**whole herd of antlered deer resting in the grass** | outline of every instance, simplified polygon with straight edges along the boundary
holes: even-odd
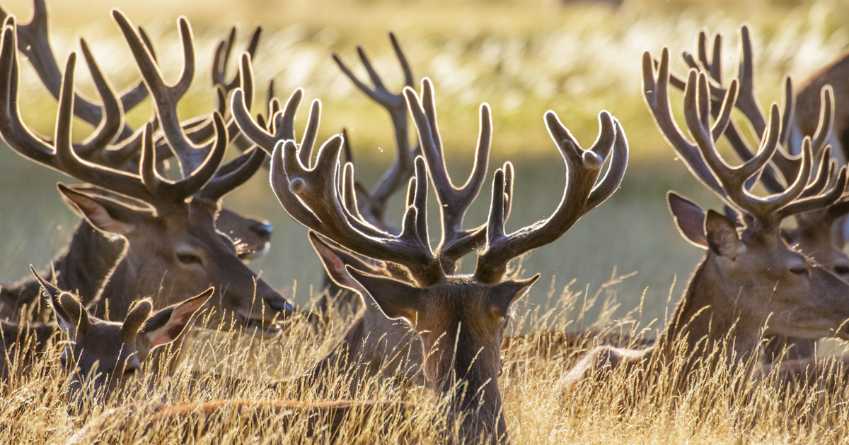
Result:
[[[344,132],[318,143],[318,100],[310,106],[303,134],[295,136],[300,88],[283,102],[269,86],[264,114],[252,114],[258,104],[252,57],[259,28],[231,80],[225,72],[234,31],[219,43],[211,68],[216,108],[181,120],[177,103],[196,70],[187,19],[177,21],[183,61],[179,78],[169,84],[160,69],[165,58],[157,58],[143,28],[113,10],[142,81],[115,92],[81,39],[99,96],[100,103],[94,103],[77,93],[77,54],[71,53],[64,66],[53,54],[44,0],[35,0],[29,24],[19,25],[5,12],[3,17],[0,136],[22,157],[82,182],[57,185],[80,216],[68,246],[44,272],[33,268],[30,280],[2,286],[3,378],[27,372],[37,353],[61,337],[68,340],[62,343],[61,362],[73,376],[72,391],[102,397],[132,379],[155,348],[179,342],[190,321],[200,320],[194,315],[202,308],[214,310],[202,318],[204,326],[197,322],[195,327],[224,325],[270,339],[284,336],[281,322],[293,317],[320,329],[324,312],[335,305],[351,311],[351,325],[309,377],[318,381],[329,370],[351,370],[351,397],[357,381],[367,377],[424,385],[447,400],[443,414],[457,425],[446,431],[453,440],[509,442],[498,387],[502,351],[510,344],[504,331],[514,303],[540,277],[520,278],[509,265],[563,236],[616,192],[628,161],[619,120],[600,112],[599,135],[583,148],[557,114],[544,114],[565,164],[563,182],[548,183],[562,186],[562,197],[547,219],[509,232],[505,223],[514,201],[514,166],[505,162],[487,182],[489,105],[480,107],[469,177],[456,186],[448,174],[434,85],[423,78],[419,91],[414,89],[412,70],[394,35],[391,43],[405,83],[401,91],[387,89],[362,49],[359,58],[373,86],[333,56],[342,73],[391,116],[397,158],[369,191],[355,177]],[[686,363],[674,380],[677,391],[686,390],[687,375],[695,369],[730,367],[751,379],[776,366],[789,378],[817,372],[817,340],[849,340],[849,258],[842,230],[849,214],[849,175],[842,165],[849,157],[849,108],[844,104],[849,56],[820,70],[798,93],[787,77],[783,105],[773,103],[765,112],[755,95],[750,32],[741,28],[739,68],[730,82],[722,79],[719,35],[711,48],[700,33],[697,53],[683,53],[689,66],[683,76],[671,71],[668,49],[660,58],[644,53],[644,99],[658,129],[690,173],[726,206],[721,213],[706,211],[668,192],[678,231],[704,249],[705,258],[657,340],[638,348],[602,344],[586,351],[554,386],[565,403],[576,387],[604,381],[620,367],[636,373],[634,382],[646,387],[682,350]],[[21,118],[21,108],[31,106],[20,97],[22,59],[59,103],[52,135],[37,134]],[[687,133],[673,117],[670,86],[683,91]],[[126,114],[148,97],[155,114],[132,128]],[[734,118],[735,109],[742,119]],[[410,117],[418,135],[412,142]],[[75,119],[93,132],[82,139],[72,136]],[[756,148],[740,128],[742,120],[756,135]],[[733,149],[739,165],[723,159],[719,143]],[[231,146],[239,154],[224,162]],[[175,180],[166,178],[171,158],[178,170],[171,177],[179,175]],[[268,164],[274,195],[306,227],[329,278],[329,291],[312,311],[284,298],[245,264],[267,250],[271,225],[222,208],[222,197]],[[387,202],[405,184],[402,218],[387,220]],[[486,220],[466,221],[485,184]],[[436,248],[426,214],[431,186],[439,205]],[[785,224],[790,219],[795,224]],[[474,272],[459,274],[459,260],[473,252]],[[339,297],[327,298],[333,295]],[[568,345],[566,340],[560,347]],[[717,348],[729,350],[717,354]],[[179,360],[171,363],[178,366]],[[343,413],[369,405],[409,408],[402,401],[352,400],[234,399],[162,406],[157,418],[228,403],[289,415]]]

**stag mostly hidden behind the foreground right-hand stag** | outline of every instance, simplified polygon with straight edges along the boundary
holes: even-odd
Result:
[[[701,31],[697,39],[698,58],[688,52],[684,52],[682,58],[689,68],[703,71],[708,75],[711,82],[711,114],[716,117],[722,106],[722,97],[727,92],[727,87],[722,85],[721,77],[722,35],[717,33],[714,36],[712,48],[708,47],[707,42],[706,32]],[[756,133],[763,133],[766,118],[756,100],[754,52],[751,30],[746,25],[740,27],[739,42],[737,72],[739,100],[735,103],[735,107],[745,116]],[[711,54],[710,58],[708,54]],[[679,76],[671,75],[670,83],[683,90],[684,81]],[[812,140],[814,155],[823,155],[826,158],[835,155],[835,159],[842,164],[841,159],[845,159],[845,156],[840,151],[839,142],[837,142],[838,145],[834,145],[835,134],[842,131],[835,126],[841,118],[837,115],[835,108],[835,88],[824,84],[822,86],[822,91],[816,92],[816,96],[821,98],[821,100],[818,99],[818,103],[822,104],[821,108],[810,108],[811,101],[806,98],[812,94],[810,88],[804,86],[799,93],[794,94],[792,78],[787,76],[784,79],[785,121],[779,137],[780,145],[791,154],[801,153],[801,137],[798,130],[803,128],[802,134],[809,136]],[[816,125],[810,125],[810,122]],[[751,147],[745,142],[734,122],[728,124],[725,135],[726,140],[741,159],[751,159],[754,156]],[[826,151],[829,145],[831,148]],[[759,182],[768,192],[780,192],[783,184],[790,184],[795,179],[792,162],[784,155],[784,150],[776,150],[773,162],[765,167]],[[849,257],[843,252],[845,240],[841,230],[841,221],[846,214],[849,214],[849,201],[844,199],[822,209],[795,214],[796,227],[782,229],[782,235],[788,244],[796,246],[801,253],[822,264],[842,280],[849,281]],[[773,337],[764,348],[763,359],[767,363],[772,362],[785,349],[785,359],[811,359],[815,354],[816,346],[816,339]]]

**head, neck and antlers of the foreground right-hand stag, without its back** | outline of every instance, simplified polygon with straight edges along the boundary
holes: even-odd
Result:
[[[678,229],[689,242],[707,250],[679,308],[689,306],[681,309],[684,312],[710,309],[698,316],[695,312],[683,314],[680,322],[704,328],[712,322],[711,335],[727,333],[734,325],[738,360],[756,353],[764,326],[767,335],[849,338],[849,325],[845,324],[849,320],[849,285],[790,248],[780,230],[784,218],[828,208],[841,199],[846,192],[846,167],[835,175],[829,150],[813,156],[810,138],[802,143],[801,157],[791,159],[781,153],[787,112],[783,120],[774,103],[757,153],[738,167],[729,166],[717,153],[715,142],[728,136],[732,128],[731,111],[742,82],[731,82],[710,125],[708,77],[690,70],[684,86],[684,114],[694,138],[689,142],[670,111],[669,51],[663,50],[656,73],[649,53],[644,54],[643,62],[645,99],[658,128],[690,172],[733,208],[739,219],[713,211],[705,214],[694,203],[670,194],[669,206]],[[771,160],[787,169],[784,177],[793,181],[780,192],[758,197],[751,192],[751,178],[762,174]],[[790,171],[795,173],[790,175]],[[690,338],[709,333],[700,334]]]

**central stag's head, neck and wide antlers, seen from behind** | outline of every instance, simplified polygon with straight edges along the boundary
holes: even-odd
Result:
[[[343,144],[340,136],[323,144],[311,167],[302,159],[313,159],[303,154],[312,147],[298,147],[293,141],[294,110],[287,111],[287,117],[279,114],[280,123],[287,130],[275,138],[251,122],[247,108],[239,104],[238,90],[231,108],[246,135],[260,147],[274,147],[272,186],[284,209],[295,220],[351,251],[398,264],[407,271],[408,280],[399,281],[346,267],[351,278],[387,317],[402,318],[419,333],[426,353],[424,375],[437,391],[451,398],[449,415],[469,416],[463,427],[464,437],[476,439],[483,434],[506,441],[498,392],[503,330],[512,303],[539,278],[536,275],[527,280],[504,280],[507,265],[511,259],[553,242],[583,214],[610,197],[624,175],[627,142],[618,122],[610,114],[602,113],[599,139],[592,149],[585,151],[556,115],[548,112],[545,116],[548,131],[566,164],[566,187],[558,209],[547,220],[507,234],[504,220],[512,199],[513,166],[506,163],[495,174],[488,223],[464,230],[466,210],[486,175],[492,136],[489,107],[481,106],[475,166],[469,181],[458,188],[446,174],[429,80],[422,82],[422,91],[424,103],[412,89],[404,90],[424,157],[414,162],[415,176],[409,182],[407,209],[397,236],[368,224],[359,214],[353,192],[353,166],[346,164],[344,169],[340,168]],[[292,98],[300,99],[300,95],[301,92],[295,92]],[[287,108],[291,103],[290,100]],[[596,184],[608,155],[610,170]],[[442,236],[436,249],[430,248],[425,214],[428,175],[441,209]],[[475,273],[455,275],[457,253],[476,246],[483,249],[478,253]]]

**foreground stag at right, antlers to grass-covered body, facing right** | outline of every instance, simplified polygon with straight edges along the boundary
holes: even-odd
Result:
[[[770,108],[767,131],[761,135],[755,156],[739,166],[730,166],[717,152],[716,142],[728,134],[739,80],[731,82],[721,112],[711,125],[708,76],[689,71],[683,108],[692,142],[672,118],[668,84],[668,48],[663,49],[656,70],[651,53],[644,53],[644,99],[655,124],[688,170],[731,206],[740,221],[712,209],[706,212],[678,193],[667,193],[678,231],[686,241],[706,250],[705,259],[694,270],[653,347],[594,348],[558,382],[564,398],[587,379],[604,381],[612,370],[621,367],[627,372],[644,370],[635,383],[646,388],[651,379],[668,373],[676,359],[683,364],[674,371],[680,374],[672,376],[674,392],[686,391],[696,370],[724,366],[750,378],[764,335],[849,338],[849,284],[790,248],[780,231],[784,218],[840,199],[846,192],[846,167],[832,177],[834,161],[824,156],[815,159],[811,140],[806,138],[802,156],[795,163],[796,180],[783,192],[757,196],[747,184],[779,149],[786,118],[779,106],[773,103]],[[812,171],[817,172],[813,178]],[[722,348],[728,352],[712,353]]]

